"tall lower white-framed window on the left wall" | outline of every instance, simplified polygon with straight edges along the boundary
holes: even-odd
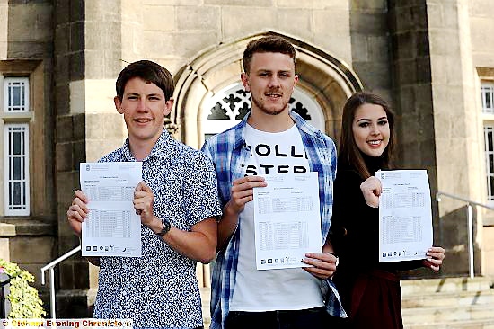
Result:
[[[4,132],[5,215],[28,216],[29,124],[5,124]]]

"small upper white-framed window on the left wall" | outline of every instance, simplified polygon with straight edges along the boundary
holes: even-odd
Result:
[[[29,78],[5,77],[4,103],[7,113],[29,111]]]

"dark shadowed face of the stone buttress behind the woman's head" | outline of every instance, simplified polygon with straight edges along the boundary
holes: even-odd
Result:
[[[432,197],[437,191],[434,106],[430,74],[428,14],[425,0],[388,1],[393,71],[393,109],[397,116],[396,166],[427,169]],[[435,244],[440,244],[437,204],[432,202]],[[421,273],[423,272],[423,273]],[[431,275],[419,269],[412,275]]]

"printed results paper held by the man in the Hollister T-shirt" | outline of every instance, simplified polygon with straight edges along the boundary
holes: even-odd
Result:
[[[258,270],[308,267],[305,253],[321,253],[318,173],[266,175],[254,189]]]

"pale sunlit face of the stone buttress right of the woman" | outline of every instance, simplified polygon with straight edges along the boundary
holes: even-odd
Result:
[[[432,76],[432,103],[436,140],[437,188],[465,199],[485,200],[483,135],[479,94],[475,88],[472,42],[467,0],[427,0],[428,38]],[[475,209],[474,209],[475,210]],[[481,214],[475,216],[475,271],[480,273]],[[444,270],[468,272],[468,236],[464,202],[439,204],[443,243],[447,247]],[[475,218],[474,218],[475,219]]]

